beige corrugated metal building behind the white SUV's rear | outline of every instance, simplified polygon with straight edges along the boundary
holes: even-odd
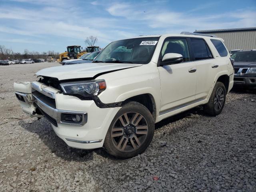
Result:
[[[256,49],[256,27],[202,31],[196,30],[195,33],[211,34],[224,39],[224,43],[229,51],[234,49]]]

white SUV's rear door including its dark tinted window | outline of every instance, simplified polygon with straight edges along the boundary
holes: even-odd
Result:
[[[190,38],[192,57],[196,65],[196,100],[206,98],[217,74],[218,64],[203,38]]]

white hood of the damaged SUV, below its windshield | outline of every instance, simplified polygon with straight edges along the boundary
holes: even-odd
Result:
[[[129,63],[84,63],[45,68],[36,73],[38,76],[58,78],[58,80],[92,78],[100,73],[142,66]]]

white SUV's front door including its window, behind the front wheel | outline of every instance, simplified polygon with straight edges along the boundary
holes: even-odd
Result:
[[[181,54],[183,62],[158,67],[161,83],[160,115],[194,102],[196,94],[196,65],[191,62],[188,39],[167,38],[160,60],[167,53]]]

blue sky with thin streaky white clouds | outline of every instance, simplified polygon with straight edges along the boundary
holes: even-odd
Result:
[[[0,0],[0,45],[64,52],[97,36],[114,40],[182,31],[256,27],[256,0]]]

